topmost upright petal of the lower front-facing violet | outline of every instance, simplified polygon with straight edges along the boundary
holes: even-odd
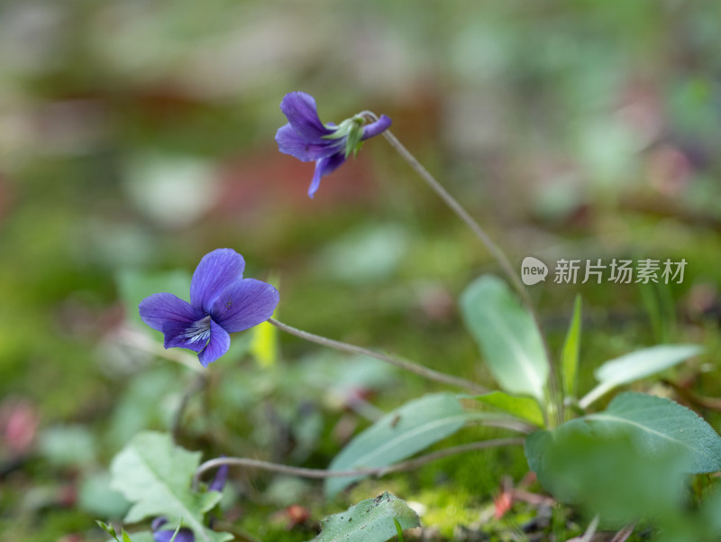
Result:
[[[213,299],[229,284],[242,279],[245,261],[230,248],[219,248],[203,256],[190,281],[190,302],[209,313]]]

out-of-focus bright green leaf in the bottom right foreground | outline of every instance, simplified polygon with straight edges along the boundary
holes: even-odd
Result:
[[[618,528],[641,518],[671,518],[683,505],[688,456],[674,446],[650,455],[636,440],[626,427],[598,433],[589,423],[569,422],[528,436],[525,452],[556,500]]]

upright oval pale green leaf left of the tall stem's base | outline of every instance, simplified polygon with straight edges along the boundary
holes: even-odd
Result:
[[[506,283],[490,275],[475,280],[461,294],[461,313],[501,388],[543,404],[549,370],[543,339]]]

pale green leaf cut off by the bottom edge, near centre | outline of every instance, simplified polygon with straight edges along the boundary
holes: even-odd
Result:
[[[375,499],[360,501],[321,522],[321,534],[313,542],[385,542],[400,528],[420,527],[415,511],[386,491]]]

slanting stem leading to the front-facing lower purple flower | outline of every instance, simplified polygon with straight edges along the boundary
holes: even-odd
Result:
[[[276,320],[275,318],[269,318],[268,322],[269,324],[278,327],[278,329],[285,331],[290,335],[296,335],[297,337],[300,337],[301,339],[306,339],[306,341],[310,341],[311,343],[322,344],[323,346],[328,346],[329,348],[334,348],[335,350],[340,350],[341,352],[347,352],[349,354],[367,355],[376,358],[381,362],[396,365],[397,367],[405,369],[408,372],[414,372],[415,374],[418,374],[428,380],[442,382],[443,384],[449,384],[451,386],[457,386],[459,388],[463,388],[464,390],[469,390],[471,393],[488,392],[486,388],[480,386],[475,382],[468,381],[464,378],[460,378],[457,376],[452,376],[451,374],[446,374],[445,372],[437,372],[418,363],[413,363],[397,357],[393,357],[391,355],[374,352],[373,350],[368,350],[366,348],[363,348],[362,346],[356,346],[355,344],[342,343],[340,341],[334,341],[333,339],[329,339],[321,335],[314,335],[312,333],[308,333],[307,331],[303,331],[302,329],[297,329],[297,327],[288,326],[287,324],[278,322],[278,320]]]

